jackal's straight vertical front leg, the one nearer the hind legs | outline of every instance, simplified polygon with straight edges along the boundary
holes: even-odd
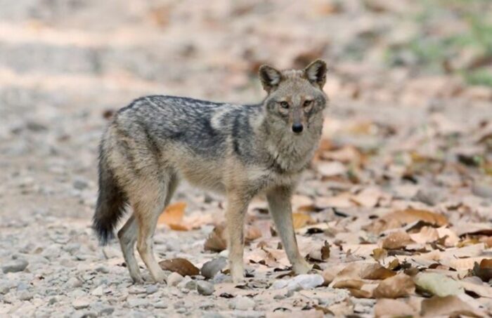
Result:
[[[244,223],[250,197],[235,192],[229,192],[226,208],[227,245],[229,249],[229,270],[233,282],[244,279]]]

